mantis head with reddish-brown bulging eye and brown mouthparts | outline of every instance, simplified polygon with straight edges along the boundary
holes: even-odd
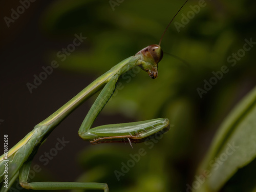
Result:
[[[152,79],[158,76],[158,62],[163,58],[163,51],[159,45],[151,45],[140,50],[136,55],[141,55],[141,69],[150,75]]]

